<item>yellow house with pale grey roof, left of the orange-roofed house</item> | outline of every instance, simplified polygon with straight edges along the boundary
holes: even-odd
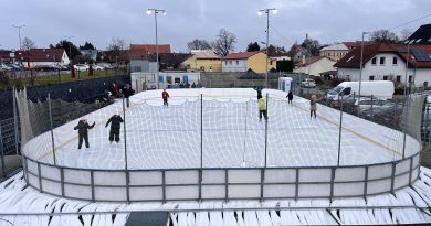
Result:
[[[192,55],[183,62],[191,72],[221,72],[221,57],[213,50],[192,50]]]

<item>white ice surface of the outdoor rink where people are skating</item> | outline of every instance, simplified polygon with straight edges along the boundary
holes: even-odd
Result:
[[[402,158],[402,132],[317,106],[317,119],[309,118],[309,100],[286,93],[269,94],[267,134],[265,121],[259,120],[256,92],[233,89],[169,89],[169,107],[162,106],[161,90],[130,97],[123,116],[123,101],[85,117],[96,126],[90,130],[90,148],[77,149],[77,120],[55,128],[56,164],[70,168],[127,169],[333,166],[372,164]],[[201,101],[201,94],[203,101]],[[202,106],[202,107],[201,107]],[[106,121],[114,114],[125,119],[120,142],[109,143]],[[202,114],[202,115],[201,115]],[[202,120],[202,123],[201,123]],[[201,136],[202,134],[202,136]],[[201,158],[202,150],[202,158]],[[406,157],[417,153],[420,144],[406,137]],[[38,136],[23,146],[27,157],[54,163],[51,132]]]

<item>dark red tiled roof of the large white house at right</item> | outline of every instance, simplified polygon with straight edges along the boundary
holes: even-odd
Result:
[[[422,49],[428,55],[431,54],[431,45],[410,45],[412,49]],[[393,53],[399,55],[404,62],[407,61],[407,45],[406,44],[387,44],[387,43],[375,43],[364,45],[362,65],[375,57],[378,53]],[[431,67],[431,61],[418,62],[414,57],[409,58],[409,67]],[[344,68],[359,68],[360,67],[360,47],[351,50],[343,58],[340,58],[335,67]]]

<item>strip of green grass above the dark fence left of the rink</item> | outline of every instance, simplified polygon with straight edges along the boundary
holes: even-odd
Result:
[[[12,87],[24,87],[24,86],[41,86],[41,85],[54,85],[61,83],[69,83],[74,80],[85,80],[85,79],[94,79],[101,77],[109,77],[120,74],[127,74],[122,69],[107,69],[107,71],[94,71],[92,76],[88,76],[88,72],[80,72],[75,73],[75,77],[73,78],[71,73],[67,74],[57,74],[52,73],[51,75],[40,75],[40,73],[33,74],[33,78],[30,76],[30,72],[28,72],[24,78],[14,78],[13,73],[8,74],[8,79],[0,79],[0,88],[12,88]]]

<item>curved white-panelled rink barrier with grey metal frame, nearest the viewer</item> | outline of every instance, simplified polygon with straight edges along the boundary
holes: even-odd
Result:
[[[420,173],[419,153],[367,165],[127,171],[66,168],[25,155],[23,159],[24,177],[31,187],[90,202],[367,198],[409,186]]]

